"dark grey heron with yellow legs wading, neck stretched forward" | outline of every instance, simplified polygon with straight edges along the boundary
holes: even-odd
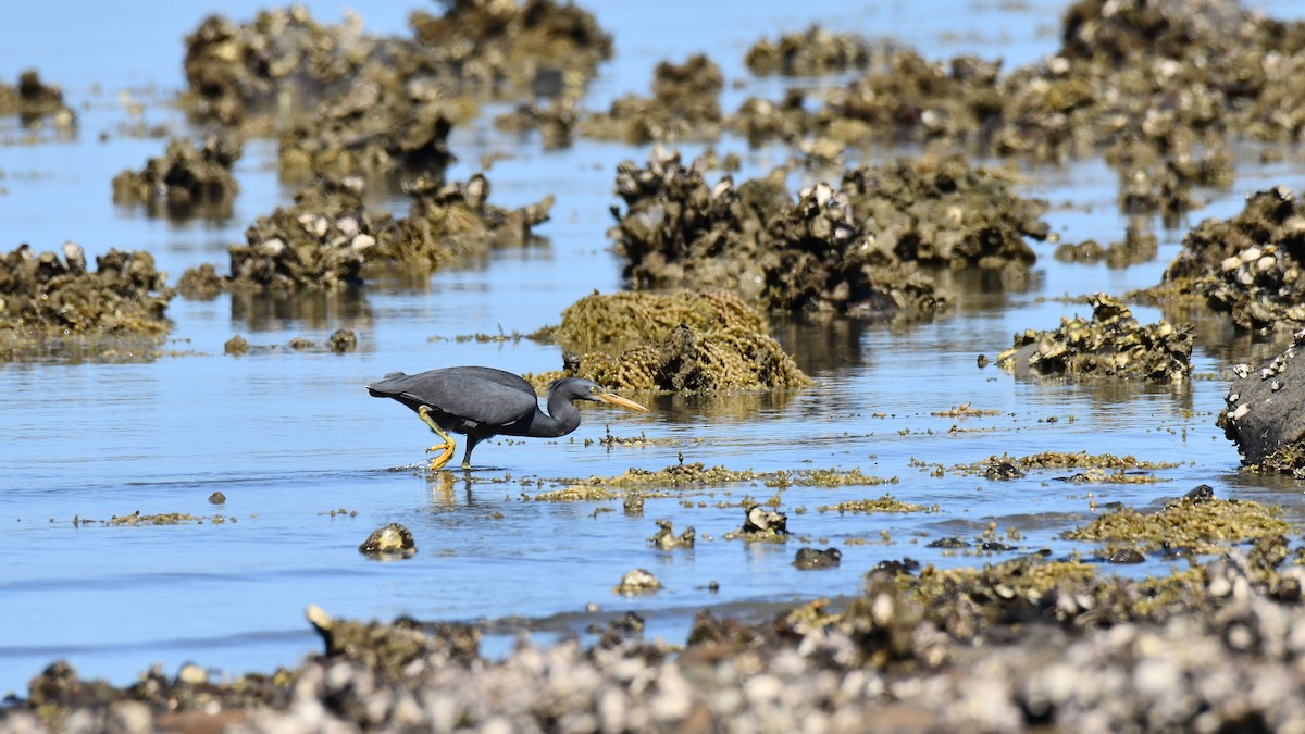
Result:
[[[431,460],[431,469],[440,469],[453,458],[455,448],[448,431],[467,436],[462,468],[471,469],[471,449],[489,436],[565,436],[579,426],[579,410],[573,400],[608,402],[647,413],[649,409],[613,394],[607,388],[581,377],[565,377],[548,385],[548,413],[539,409],[539,396],[530,383],[493,367],[445,367],[419,375],[392,372],[381,381],[367,385],[372,397],[392,397],[411,407],[444,439],[429,452],[441,452]]]

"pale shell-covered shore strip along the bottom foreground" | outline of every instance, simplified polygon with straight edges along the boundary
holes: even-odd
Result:
[[[1305,720],[1302,550],[1266,537],[1147,579],[1039,556],[919,573],[885,560],[847,599],[762,622],[703,610],[683,649],[643,641],[642,619],[626,615],[592,645],[523,640],[485,658],[470,626],[359,623],[311,606],[325,653],[295,669],[210,680],[188,665],[116,688],[57,662],[0,725],[1265,730]],[[632,688],[632,677],[656,688]]]

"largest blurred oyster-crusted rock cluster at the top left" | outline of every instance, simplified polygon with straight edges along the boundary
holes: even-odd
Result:
[[[206,18],[187,38],[189,110],[268,133],[279,131],[288,176],[440,174],[452,125],[476,99],[578,95],[611,38],[587,12],[552,0],[453,0],[445,14],[411,16],[412,38],[364,34],[351,16],[321,25],[303,7],[249,24]]]

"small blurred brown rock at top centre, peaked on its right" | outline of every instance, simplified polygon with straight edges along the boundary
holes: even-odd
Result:
[[[633,144],[714,140],[720,135],[720,67],[702,54],[683,64],[662,61],[652,72],[652,98],[625,95],[606,114],[581,121],[590,137]]]

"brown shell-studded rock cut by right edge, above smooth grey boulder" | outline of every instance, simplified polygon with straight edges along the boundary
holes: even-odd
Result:
[[[1246,197],[1232,219],[1206,219],[1182,239],[1158,296],[1193,295],[1244,329],[1305,324],[1305,206],[1285,187]]]

